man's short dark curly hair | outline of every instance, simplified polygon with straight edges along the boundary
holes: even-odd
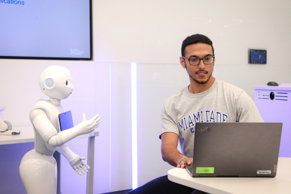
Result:
[[[189,45],[193,45],[196,43],[205,43],[212,47],[212,54],[214,55],[214,49],[212,46],[212,41],[205,35],[196,33],[194,35],[188,36],[182,43],[181,54],[185,57],[185,49]]]

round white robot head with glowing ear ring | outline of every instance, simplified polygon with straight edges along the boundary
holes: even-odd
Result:
[[[45,95],[59,100],[69,97],[74,89],[71,72],[63,66],[53,65],[45,68],[38,82]]]

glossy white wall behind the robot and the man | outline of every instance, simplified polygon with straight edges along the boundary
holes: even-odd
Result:
[[[161,159],[158,136],[163,100],[189,83],[178,64],[182,41],[194,33],[209,36],[216,57],[214,77],[254,97],[253,85],[291,82],[291,64],[282,62],[291,53],[290,7],[289,0],[94,0],[93,62],[0,60],[5,117],[14,126],[30,125],[30,108],[46,98],[37,83],[39,73],[49,65],[69,68],[75,89],[62,104],[72,111],[74,124],[83,112],[87,117],[101,114],[95,192],[130,189],[130,62],[137,62],[140,186],[172,168]],[[249,65],[248,48],[267,49],[267,65]],[[83,155],[86,144],[84,139],[69,142]],[[65,162],[63,193],[85,193],[85,177],[74,175]]]

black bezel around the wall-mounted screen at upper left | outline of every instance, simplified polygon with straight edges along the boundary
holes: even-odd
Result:
[[[19,56],[1,56],[0,59],[34,59],[34,60],[70,60],[70,61],[92,61],[93,60],[93,0],[89,0],[90,9],[90,57],[72,58],[72,57],[19,57]]]

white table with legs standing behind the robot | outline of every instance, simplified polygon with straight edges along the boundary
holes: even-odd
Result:
[[[27,127],[15,127],[15,130],[20,130],[20,134],[17,135],[0,135],[0,145],[6,144],[19,144],[19,143],[29,143],[34,142],[34,132],[32,126]],[[88,165],[90,170],[87,173],[87,186],[86,194],[93,194],[94,192],[94,152],[95,152],[95,136],[99,136],[99,131],[93,131],[92,133],[80,135],[76,138],[88,139]],[[58,164],[60,167],[60,163]],[[58,170],[59,174],[60,170]],[[60,185],[60,178],[58,178],[58,185]],[[60,187],[59,187],[60,188]],[[61,193],[61,191],[59,191]]]

